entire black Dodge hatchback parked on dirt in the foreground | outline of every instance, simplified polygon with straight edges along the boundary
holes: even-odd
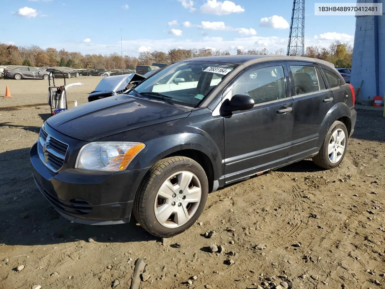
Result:
[[[354,89],[306,57],[186,59],[125,94],[49,118],[30,151],[37,187],[65,218],[128,222],[170,237],[209,192],[306,158],[331,169],[346,153]]]

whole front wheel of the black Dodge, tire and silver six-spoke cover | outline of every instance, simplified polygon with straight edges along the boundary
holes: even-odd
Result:
[[[180,189],[183,180],[186,186]],[[162,198],[164,195],[167,197]],[[189,195],[192,202],[186,198]],[[184,156],[165,158],[152,166],[142,180],[134,199],[133,213],[137,222],[150,234],[172,237],[187,230],[198,220],[207,195],[207,176],[196,161]],[[159,209],[162,206],[165,206],[164,209]],[[181,212],[180,220],[178,212]]]

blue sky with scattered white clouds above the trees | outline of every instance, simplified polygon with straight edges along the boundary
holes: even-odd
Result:
[[[353,44],[355,17],[315,16],[319,2],[333,1],[306,0],[305,45]],[[291,0],[0,0],[0,43],[120,54],[122,35],[130,56],[172,48],[286,52],[292,8]]]

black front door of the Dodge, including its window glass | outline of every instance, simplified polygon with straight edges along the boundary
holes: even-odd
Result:
[[[223,115],[226,183],[288,162],[294,101],[287,81],[285,62],[268,62],[250,67],[231,84],[225,97],[246,94],[255,104]]]

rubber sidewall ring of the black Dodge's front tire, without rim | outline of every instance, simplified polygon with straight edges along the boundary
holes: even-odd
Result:
[[[155,217],[155,197],[162,183],[178,171],[190,171],[198,177],[199,182],[201,183],[202,190],[201,202],[199,203],[199,206],[196,212],[194,213],[194,216],[192,216],[190,220],[188,220],[184,225],[178,228],[167,228],[161,225],[161,223],[159,223]],[[160,235],[171,237],[173,235],[177,235],[185,231],[186,229],[191,227],[191,225],[193,225],[196,220],[198,220],[199,216],[203,212],[204,206],[206,205],[208,195],[208,180],[206,173],[200,166],[197,166],[193,163],[178,163],[176,165],[169,166],[169,168],[164,170],[161,175],[156,176],[155,180],[152,182],[150,190],[151,193],[149,194],[146,202],[146,218],[148,220],[149,227]]]

